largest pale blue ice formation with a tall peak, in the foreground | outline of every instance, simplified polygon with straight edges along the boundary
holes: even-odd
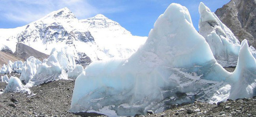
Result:
[[[160,112],[175,103],[207,101],[229,75],[193,27],[186,7],[172,3],[130,58],[93,62],[77,77],[70,111]]]

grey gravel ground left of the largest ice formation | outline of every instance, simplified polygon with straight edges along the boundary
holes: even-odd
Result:
[[[0,83],[4,89],[6,83]],[[93,113],[73,114],[70,109],[75,80],[58,80],[34,86],[32,94],[0,94],[0,117],[84,117]]]

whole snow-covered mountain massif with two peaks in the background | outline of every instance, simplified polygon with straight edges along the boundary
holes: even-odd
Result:
[[[91,61],[105,60],[111,57],[129,57],[143,43],[143,40],[145,41],[145,38],[132,36],[129,31],[126,31],[118,23],[109,20],[107,17],[102,18],[106,21],[104,25],[102,25],[103,22],[96,22],[94,19],[100,19],[97,18],[100,16],[103,17],[103,15],[99,14],[94,18],[87,19],[90,22],[85,23],[86,20],[79,21],[75,14],[67,8],[53,11],[26,26],[15,29],[0,29],[0,31],[5,32],[0,34],[0,40],[6,42],[0,44],[0,48],[9,48],[14,52],[14,43],[20,42],[45,54],[49,54],[52,48],[67,46],[70,53],[75,55],[77,63],[88,64]],[[126,33],[122,36],[126,38],[116,36],[119,35],[119,31],[116,31],[117,29],[125,31]],[[92,30],[93,34],[91,34],[90,30]],[[98,35],[108,38],[102,39]],[[102,40],[108,43],[100,43]],[[130,43],[133,45],[133,48],[129,46],[122,47],[119,44],[119,42],[131,42],[133,40],[137,40]],[[134,43],[138,43],[137,46],[134,46]],[[111,46],[111,48],[107,48],[108,46]]]

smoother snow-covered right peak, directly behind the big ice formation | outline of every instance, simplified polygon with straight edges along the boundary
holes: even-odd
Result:
[[[119,23],[102,14],[79,22],[91,32],[99,48],[112,56],[128,58],[146,40],[146,37],[132,36]]]

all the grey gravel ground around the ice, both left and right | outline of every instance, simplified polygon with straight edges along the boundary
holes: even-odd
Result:
[[[233,71],[234,68],[226,68]],[[0,90],[6,83],[0,83]],[[0,94],[0,117],[94,117],[95,113],[69,113],[75,80],[58,80],[31,88],[31,94]],[[209,104],[195,102],[173,106],[140,117],[256,117],[256,97]]]

